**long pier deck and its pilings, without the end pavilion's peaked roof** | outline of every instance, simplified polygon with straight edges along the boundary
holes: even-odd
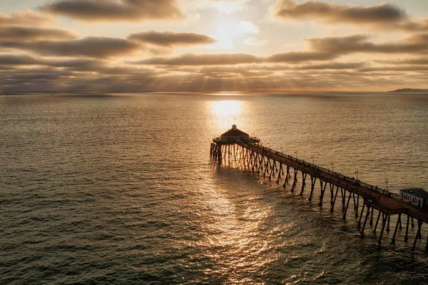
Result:
[[[379,234],[379,245],[382,241],[382,234],[384,232],[385,226],[386,231],[389,231],[389,220],[390,216],[392,215],[397,215],[397,224],[395,226],[394,234],[392,236],[392,243],[394,243],[395,241],[397,229],[402,229],[402,215],[407,215],[407,225],[404,241],[407,241],[408,239],[410,219],[412,221],[412,227],[414,227],[414,219],[417,219],[417,234],[414,238],[412,251],[414,251],[415,249],[417,240],[422,239],[422,224],[428,223],[428,208],[420,208],[418,206],[414,206],[400,199],[399,195],[394,194],[385,189],[379,189],[377,186],[372,186],[360,180],[354,179],[353,177],[345,176],[338,172],[331,171],[330,169],[325,169],[321,166],[310,164],[307,161],[297,159],[296,157],[292,157],[290,155],[283,154],[282,152],[275,151],[265,146],[261,146],[260,140],[256,138],[215,138],[213,139],[213,143],[211,144],[210,154],[211,157],[213,157],[215,161],[218,161],[220,165],[222,164],[223,160],[228,160],[229,165],[231,165],[231,161],[239,161],[238,163],[242,165],[245,169],[257,171],[259,174],[263,173],[264,176],[269,176],[269,179],[275,177],[276,173],[278,183],[283,175],[285,176],[284,186],[289,182],[289,179],[291,178],[290,169],[292,169],[294,172],[291,188],[292,192],[295,191],[298,176],[297,174],[300,172],[302,175],[302,188],[300,191],[300,195],[302,195],[305,191],[306,178],[307,176],[309,176],[311,182],[309,200],[312,200],[312,194],[315,189],[315,184],[318,181],[318,183],[320,184],[320,206],[322,206],[325,191],[327,189],[327,185],[329,185],[330,187],[327,193],[330,192],[331,211],[333,211],[338,193],[340,193],[339,198],[342,199],[343,219],[346,219],[347,209],[350,205],[350,201],[352,200],[354,204],[355,217],[357,218],[358,216],[360,216],[360,220],[358,221],[359,228],[362,224],[362,221],[364,222],[361,230],[362,236],[364,236],[365,226],[369,216],[370,225],[372,225],[373,212],[374,210],[377,210],[377,221],[376,225],[374,226],[373,232],[376,233],[377,224],[379,222],[380,217],[382,216],[382,220],[380,221],[381,231]],[[361,205],[359,207],[360,197],[363,200],[361,211]],[[367,214],[365,212],[366,209]],[[362,220],[363,216],[365,216],[365,219]],[[428,250],[428,238],[427,246],[425,246],[425,248]]]

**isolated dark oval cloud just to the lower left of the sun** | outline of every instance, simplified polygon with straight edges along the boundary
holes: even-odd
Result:
[[[177,33],[175,31],[144,31],[128,36],[132,41],[141,41],[156,46],[190,46],[195,44],[213,44],[215,39],[204,34]]]

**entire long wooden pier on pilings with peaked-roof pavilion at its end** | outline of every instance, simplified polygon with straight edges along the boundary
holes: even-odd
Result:
[[[412,244],[412,251],[414,251],[417,241],[422,240],[422,224],[428,223],[427,206],[424,208],[414,206],[400,199],[399,195],[385,189],[379,189],[377,186],[353,177],[267,148],[260,144],[259,139],[250,137],[235,125],[213,139],[210,156],[219,166],[253,171],[284,187],[291,185],[290,191],[297,192],[300,196],[303,196],[306,191],[309,201],[317,202],[320,207],[327,203],[332,212],[335,210],[335,205],[340,203],[342,219],[346,220],[347,215],[352,211],[357,219],[361,236],[365,236],[367,224],[370,224],[373,234],[379,234],[377,239],[379,246],[382,244],[384,231],[389,232],[393,227],[391,242],[394,244],[397,231],[401,231],[405,226],[404,241],[407,242],[409,227],[416,226],[417,232]],[[302,183],[300,189],[297,189],[299,179]],[[310,184],[308,189],[306,189],[307,184]],[[315,197],[315,190],[317,190],[316,194],[319,194],[317,197]],[[326,196],[329,196],[327,201],[325,201]],[[392,216],[396,220],[395,224],[391,224]],[[428,251],[428,236],[425,249]]]

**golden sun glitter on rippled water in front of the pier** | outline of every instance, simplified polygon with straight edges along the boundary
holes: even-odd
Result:
[[[253,278],[245,274],[262,274],[267,264],[277,259],[272,235],[266,236],[264,231],[272,209],[258,203],[240,203],[233,191],[221,186],[204,188],[210,215],[203,224],[205,239],[200,239],[197,246],[213,262],[204,273],[214,274],[228,284],[252,284]]]

